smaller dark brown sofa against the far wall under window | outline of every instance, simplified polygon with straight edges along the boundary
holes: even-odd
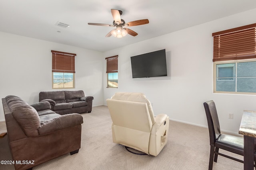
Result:
[[[90,113],[92,96],[85,96],[83,90],[40,92],[39,102],[48,101],[52,111],[64,115],[69,113]]]

